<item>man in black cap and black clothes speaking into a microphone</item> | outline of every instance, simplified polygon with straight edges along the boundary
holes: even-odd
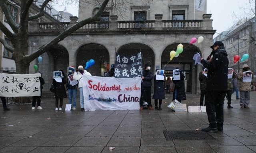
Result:
[[[209,126],[203,128],[206,132],[223,131],[223,104],[222,94],[228,89],[228,54],[221,41],[216,41],[212,46],[212,55],[206,59],[201,59],[202,65],[208,69],[205,106],[208,115]],[[216,110],[216,116],[214,114]]]

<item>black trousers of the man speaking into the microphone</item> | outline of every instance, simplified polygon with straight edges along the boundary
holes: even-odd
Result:
[[[208,91],[205,93],[206,113],[208,115],[208,121],[210,123],[210,127],[212,128],[223,127],[224,103],[222,101],[222,96],[223,96],[223,92],[219,92],[219,91]],[[216,110],[216,116],[214,114],[214,108]]]

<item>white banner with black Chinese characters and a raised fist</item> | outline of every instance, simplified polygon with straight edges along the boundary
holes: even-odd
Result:
[[[40,80],[38,75],[0,74],[0,96],[29,97],[40,96]]]

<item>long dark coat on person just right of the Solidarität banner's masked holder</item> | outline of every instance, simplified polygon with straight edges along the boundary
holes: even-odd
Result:
[[[156,75],[154,75],[153,99],[165,99],[164,80],[156,80]]]

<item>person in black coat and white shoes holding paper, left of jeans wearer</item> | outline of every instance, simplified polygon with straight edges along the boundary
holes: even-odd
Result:
[[[65,90],[65,84],[66,84],[66,76],[62,70],[59,70],[62,72],[62,82],[57,82],[54,78],[52,80],[52,84],[56,86],[55,89],[55,110],[58,110],[58,101],[60,99],[60,108],[59,110],[62,110],[63,105],[63,98],[67,98],[66,90]]]

